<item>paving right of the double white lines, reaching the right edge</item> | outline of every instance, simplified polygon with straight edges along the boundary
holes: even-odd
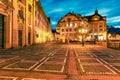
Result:
[[[120,74],[120,51],[98,47],[92,49],[91,52]]]

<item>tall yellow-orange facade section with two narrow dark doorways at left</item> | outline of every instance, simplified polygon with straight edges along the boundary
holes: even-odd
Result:
[[[32,0],[13,0],[13,44],[21,47],[32,44]]]

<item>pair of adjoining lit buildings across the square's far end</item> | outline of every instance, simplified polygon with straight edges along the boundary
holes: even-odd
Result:
[[[82,41],[82,36],[78,33],[79,27],[87,30],[86,41],[106,40],[106,17],[101,16],[96,10],[91,16],[81,16],[74,13],[66,14],[56,26],[57,41]]]

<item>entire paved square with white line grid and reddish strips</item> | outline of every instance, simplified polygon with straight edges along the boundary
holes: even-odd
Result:
[[[106,79],[120,80],[118,50],[55,43],[0,50],[0,80]]]

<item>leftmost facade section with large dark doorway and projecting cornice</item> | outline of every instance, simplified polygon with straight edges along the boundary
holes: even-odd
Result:
[[[0,48],[12,45],[13,0],[0,0]]]

